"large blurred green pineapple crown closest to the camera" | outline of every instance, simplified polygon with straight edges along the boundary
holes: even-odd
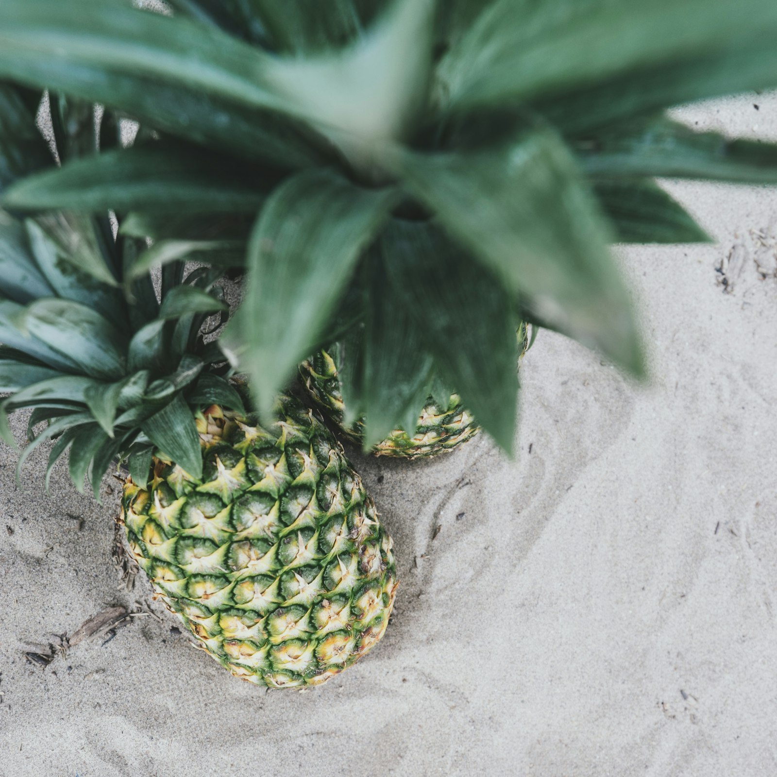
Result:
[[[222,343],[265,413],[336,339],[344,398],[375,428],[433,375],[510,449],[521,319],[643,374],[608,245],[709,240],[656,176],[777,183],[775,146],[664,113],[777,84],[773,0],[164,10],[3,0],[0,76],[155,131],[20,181],[5,207],[110,208],[159,261],[183,242],[242,267]]]

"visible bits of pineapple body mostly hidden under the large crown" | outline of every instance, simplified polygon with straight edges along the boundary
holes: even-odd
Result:
[[[526,326],[518,328],[517,339],[520,367],[529,347]],[[333,352],[334,348],[320,350],[303,361],[299,368],[301,384],[340,434],[350,442],[361,445],[364,443],[364,418],[358,418],[354,423],[346,421],[346,407]],[[438,397],[427,397],[412,435],[397,428],[385,440],[378,442],[372,452],[376,456],[422,458],[452,451],[475,437],[479,427],[472,413],[462,404],[462,398],[458,394],[449,397],[445,394],[447,392],[443,391]]]

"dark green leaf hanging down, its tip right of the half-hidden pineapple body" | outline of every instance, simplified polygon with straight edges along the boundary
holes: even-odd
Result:
[[[511,453],[518,382],[510,298],[496,277],[431,225],[393,221],[382,250],[392,286],[416,315],[437,370]]]

